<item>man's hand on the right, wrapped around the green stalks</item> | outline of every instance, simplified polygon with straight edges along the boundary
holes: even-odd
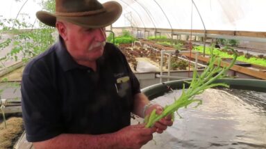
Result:
[[[163,112],[163,107],[161,107],[159,104],[153,104],[145,111],[144,113],[145,116],[149,116],[151,114],[151,111],[153,111],[153,109],[156,109],[156,113],[158,115],[160,115]],[[168,115],[160,119],[158,122],[156,122],[153,127],[156,128],[157,133],[162,134],[163,131],[166,130],[168,126],[172,125],[173,125],[172,116]]]

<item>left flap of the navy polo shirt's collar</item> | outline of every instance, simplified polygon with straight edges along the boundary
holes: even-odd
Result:
[[[58,38],[58,42],[56,42],[56,56],[58,57],[60,66],[66,72],[67,70],[72,70],[74,68],[78,68],[78,63],[74,61],[72,56],[67,51],[65,47],[65,43],[61,36]]]

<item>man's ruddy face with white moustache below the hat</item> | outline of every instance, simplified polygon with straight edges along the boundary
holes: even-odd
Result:
[[[86,29],[75,24],[66,26],[67,51],[76,61],[96,61],[106,43],[105,28]]]

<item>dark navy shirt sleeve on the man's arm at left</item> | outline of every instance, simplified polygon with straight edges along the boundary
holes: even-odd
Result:
[[[44,141],[63,131],[59,97],[42,61],[29,63],[22,76],[22,116],[29,142]]]

